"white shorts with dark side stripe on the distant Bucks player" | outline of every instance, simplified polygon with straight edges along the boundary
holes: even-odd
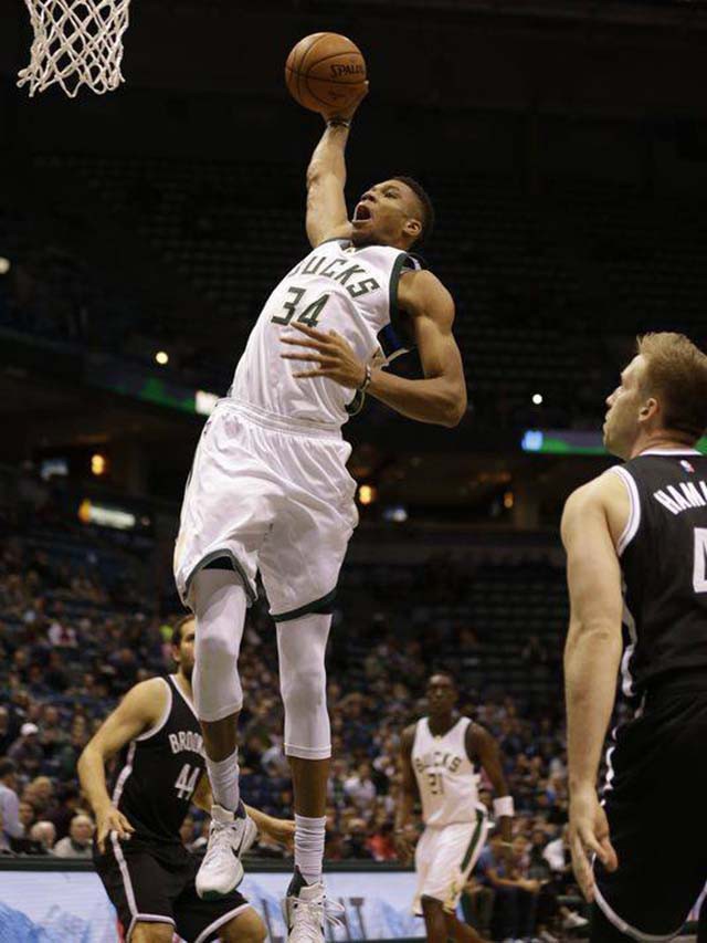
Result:
[[[422,898],[442,901],[453,913],[488,832],[488,817],[476,810],[472,821],[425,828],[415,849],[418,887],[413,911],[422,915]]]

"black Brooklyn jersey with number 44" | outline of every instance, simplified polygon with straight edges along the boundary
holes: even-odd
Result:
[[[181,842],[179,829],[205,768],[201,727],[175,675],[162,679],[167,706],[157,724],[120,752],[113,803],[135,828],[135,838]]]

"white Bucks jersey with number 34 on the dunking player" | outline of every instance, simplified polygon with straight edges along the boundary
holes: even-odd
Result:
[[[293,374],[316,364],[283,360],[281,354],[296,348],[281,338],[286,333],[306,340],[293,327],[299,322],[324,333],[336,331],[365,362],[381,346],[386,354],[400,348],[391,321],[397,316],[398,281],[404,268],[420,265],[389,245],[356,249],[347,240],[333,239],[313,249],[267,298],[229,396],[264,412],[339,428],[348,419],[346,406],[355,390],[326,377],[295,379]]]

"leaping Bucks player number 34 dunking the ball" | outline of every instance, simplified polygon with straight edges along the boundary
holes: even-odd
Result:
[[[409,254],[432,207],[409,178],[370,187],[349,221],[344,187],[347,114],[327,126],[307,172],[312,252],[267,300],[233,385],[207,422],[184,493],[175,552],[182,600],[197,616],[194,701],[214,796],[197,889],[230,893],[247,831],[239,792],[238,675],[245,610],[260,570],[277,624],[285,752],[295,806],[289,939],[323,939],[321,868],[331,754],[325,650],[339,568],[358,516],[341,438],[365,394],[421,422],[455,426],[466,385],[452,334],[454,303]],[[381,368],[400,334],[424,378]]]

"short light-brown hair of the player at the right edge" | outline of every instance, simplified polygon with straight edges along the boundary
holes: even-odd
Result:
[[[644,334],[637,349],[646,363],[644,391],[661,397],[664,428],[696,441],[707,429],[707,355],[671,332]]]

